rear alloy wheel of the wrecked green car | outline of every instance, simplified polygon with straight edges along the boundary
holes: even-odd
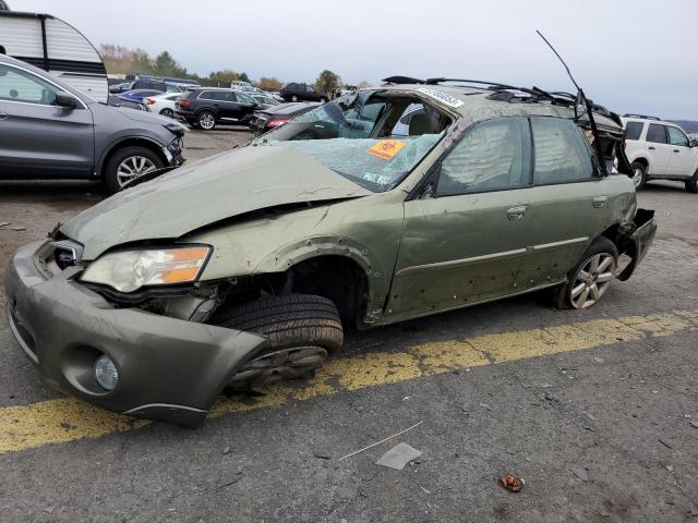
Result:
[[[601,300],[615,279],[618,250],[607,238],[601,236],[585,252],[569,272],[567,283],[557,295],[559,308],[589,308]]]

